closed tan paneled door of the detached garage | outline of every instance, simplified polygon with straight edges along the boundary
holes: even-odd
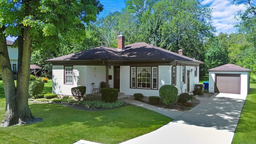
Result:
[[[240,74],[216,74],[214,92],[240,94]]]

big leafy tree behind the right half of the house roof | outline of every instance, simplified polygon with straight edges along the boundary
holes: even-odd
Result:
[[[198,0],[161,0],[143,14],[139,39],[154,45],[203,60],[203,44],[214,35],[212,9]]]

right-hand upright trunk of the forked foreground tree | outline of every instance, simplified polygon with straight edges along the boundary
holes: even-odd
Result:
[[[28,107],[28,86],[30,79],[30,61],[32,53],[32,38],[28,34],[30,27],[22,30],[22,36],[18,36],[18,72],[17,72],[17,104],[19,107],[20,122],[34,119]]]

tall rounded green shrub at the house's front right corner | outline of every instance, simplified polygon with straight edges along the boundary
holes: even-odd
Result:
[[[166,106],[170,106],[176,102],[178,89],[173,85],[164,85],[159,89],[160,98]]]

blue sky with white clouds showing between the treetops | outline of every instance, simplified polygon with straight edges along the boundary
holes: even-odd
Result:
[[[212,21],[216,27],[217,34],[233,33],[236,29],[233,27],[238,21],[234,20],[238,10],[245,10],[244,6],[235,6],[231,4],[231,0],[200,0],[204,5],[209,5],[213,8]],[[106,16],[110,12],[122,11],[125,8],[124,0],[100,0],[100,3],[104,5],[103,12],[99,16]],[[14,41],[15,37],[7,37],[7,40]]]

